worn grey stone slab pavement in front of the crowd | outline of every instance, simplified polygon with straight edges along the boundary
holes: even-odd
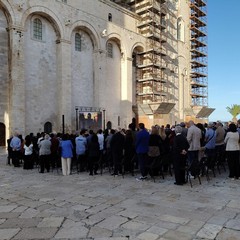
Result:
[[[0,151],[0,239],[240,239],[240,180],[136,181],[62,176],[6,165]]]

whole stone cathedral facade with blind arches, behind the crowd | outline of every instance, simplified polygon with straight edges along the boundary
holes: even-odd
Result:
[[[74,132],[85,113],[103,128],[195,118],[190,1],[154,1],[166,37],[155,43],[135,11],[142,1],[0,0],[1,145],[14,131]],[[146,55],[156,43],[164,53]],[[164,80],[146,82],[149,61]]]

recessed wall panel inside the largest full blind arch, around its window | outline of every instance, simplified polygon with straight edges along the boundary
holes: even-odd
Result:
[[[32,36],[32,21],[42,21],[43,40]],[[50,121],[54,126],[58,116],[57,45],[56,33],[47,19],[37,14],[30,16],[25,24],[24,69],[25,69],[25,131],[42,130]]]

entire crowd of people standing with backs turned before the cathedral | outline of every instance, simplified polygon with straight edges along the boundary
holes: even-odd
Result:
[[[143,123],[130,124],[125,129],[82,129],[79,134],[30,133],[23,139],[17,132],[8,139],[8,163],[14,167],[39,172],[61,168],[63,175],[70,175],[73,166],[78,172],[88,171],[97,175],[99,169],[111,169],[117,176],[123,171],[134,173],[139,169],[144,180],[148,175],[158,175],[173,168],[175,184],[186,183],[186,166],[192,177],[202,158],[210,169],[226,161],[229,178],[240,175],[240,120],[223,126],[221,122],[195,124],[193,121],[170,127],[155,125],[147,130]],[[195,166],[195,168],[193,167]],[[204,174],[203,172],[201,174]]]

